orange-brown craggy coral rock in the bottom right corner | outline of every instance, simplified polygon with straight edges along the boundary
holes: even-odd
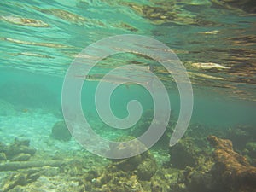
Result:
[[[215,148],[212,177],[216,179],[216,183],[222,185],[223,191],[256,191],[256,167],[251,166],[241,154],[233,151],[230,140],[210,136],[208,141]]]

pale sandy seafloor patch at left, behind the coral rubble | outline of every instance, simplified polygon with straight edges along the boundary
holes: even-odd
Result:
[[[81,149],[74,140],[61,142],[50,138],[51,129],[58,120],[60,119],[54,114],[40,110],[15,116],[0,116],[1,140],[3,143],[13,143],[14,138],[29,139],[32,147],[49,154]]]

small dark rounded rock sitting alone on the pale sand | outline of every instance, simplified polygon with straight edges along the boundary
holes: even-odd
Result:
[[[72,137],[66,123],[63,120],[55,123],[51,130],[51,136],[65,142],[69,141]]]

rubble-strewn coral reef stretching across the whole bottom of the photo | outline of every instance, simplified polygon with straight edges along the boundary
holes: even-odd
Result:
[[[137,156],[106,160],[96,155],[77,153],[34,154],[28,140],[0,143],[0,189],[1,191],[91,191],[91,192],[254,192],[256,191],[255,141],[247,137],[233,150],[232,142],[218,136],[230,137],[229,130],[211,130],[206,126],[193,125],[177,145],[160,154],[157,147]],[[192,130],[193,129],[193,130]],[[234,131],[237,127],[234,128]],[[252,128],[240,126],[241,133]],[[238,131],[237,131],[238,132]],[[250,135],[250,134],[249,134]],[[120,137],[118,141],[134,137]],[[236,140],[234,140],[236,141]],[[238,140],[236,141],[238,142]],[[18,148],[19,146],[19,148]],[[236,145],[239,146],[239,145]],[[138,146],[109,146],[113,153],[124,153],[124,148],[138,150]],[[158,152],[158,153],[156,153]],[[15,161],[24,154],[32,159]],[[154,155],[153,155],[154,154]],[[164,161],[160,161],[166,154]],[[246,156],[242,156],[246,155]],[[25,158],[26,159],[26,155]],[[45,160],[44,155],[48,155]],[[21,158],[20,157],[20,158]],[[21,158],[21,160],[22,160]],[[160,163],[161,162],[161,163]]]

